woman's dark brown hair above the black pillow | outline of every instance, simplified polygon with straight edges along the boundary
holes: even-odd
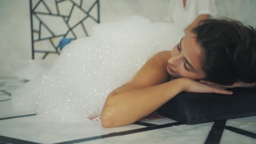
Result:
[[[193,31],[202,47],[205,80],[231,85],[256,81],[256,31],[226,17],[201,20]]]

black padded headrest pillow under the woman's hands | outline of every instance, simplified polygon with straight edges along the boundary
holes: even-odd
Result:
[[[160,115],[185,124],[256,115],[256,88],[229,88],[232,95],[183,92],[158,109]]]

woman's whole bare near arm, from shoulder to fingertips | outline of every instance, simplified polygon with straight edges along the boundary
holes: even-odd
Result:
[[[232,94],[186,78],[168,81],[166,65],[169,53],[160,52],[149,59],[132,82],[108,95],[101,113],[104,127],[119,127],[136,122],[183,91]]]

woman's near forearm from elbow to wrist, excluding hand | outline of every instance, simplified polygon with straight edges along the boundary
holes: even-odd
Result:
[[[131,124],[154,112],[183,91],[182,79],[109,95],[101,113],[104,127]]]

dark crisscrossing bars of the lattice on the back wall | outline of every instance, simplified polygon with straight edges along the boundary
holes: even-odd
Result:
[[[56,54],[60,55],[60,44],[55,45],[53,43],[52,39],[53,38],[57,38],[57,37],[66,37],[69,32],[71,32],[73,34],[74,39],[77,39],[77,35],[75,35],[75,33],[73,32],[73,28],[77,27],[78,25],[82,25],[84,33],[86,34],[86,36],[88,36],[88,32],[86,31],[86,28],[84,26],[83,21],[88,19],[89,17],[92,20],[94,20],[95,22],[100,23],[100,0],[95,0],[95,2],[91,5],[91,7],[90,7],[90,9],[88,11],[86,11],[85,9],[82,8],[83,0],[80,0],[80,4],[77,4],[77,3],[73,2],[72,0],[54,0],[57,13],[52,13],[52,11],[49,9],[48,5],[44,1],[45,0],[39,0],[37,2],[37,4],[33,7],[32,0],[30,0],[32,59],[34,59],[34,55],[35,55],[36,52],[44,53],[44,56],[42,57],[42,59],[44,59],[49,53],[56,53]],[[61,2],[64,2],[64,1],[70,1],[71,4],[72,4],[72,8],[71,8],[71,11],[69,11],[69,15],[62,15],[62,14],[60,14],[59,5],[58,4],[61,3]],[[40,3],[42,3],[44,5],[44,7],[47,9],[48,13],[36,11],[36,9],[38,8],[38,5]],[[95,5],[97,5],[97,19],[90,15],[90,11],[92,10],[92,8],[95,7]],[[71,27],[71,26],[69,26],[68,21],[69,21],[69,19],[71,17],[71,14],[73,12],[74,7],[77,7],[80,10],[82,10],[86,16],[82,20],[77,22],[73,27]],[[51,31],[51,29],[46,25],[46,23],[44,23],[44,21],[41,20],[40,17],[38,17],[38,14],[39,15],[49,15],[49,16],[62,17],[63,21],[65,22],[65,24],[68,27],[68,31],[66,33],[59,34],[59,35],[54,34],[54,32]],[[33,16],[36,17],[36,19],[39,21],[39,28],[38,29],[34,28],[34,26],[33,26]],[[41,38],[41,27],[42,27],[42,25],[48,30],[48,32],[51,34],[51,37]],[[34,39],[34,33],[38,33],[38,38],[37,39]],[[71,39],[71,40],[74,40],[74,39]],[[35,50],[34,49],[34,43],[37,43],[38,41],[42,41],[42,40],[49,40],[51,45],[54,48],[54,51]]]

